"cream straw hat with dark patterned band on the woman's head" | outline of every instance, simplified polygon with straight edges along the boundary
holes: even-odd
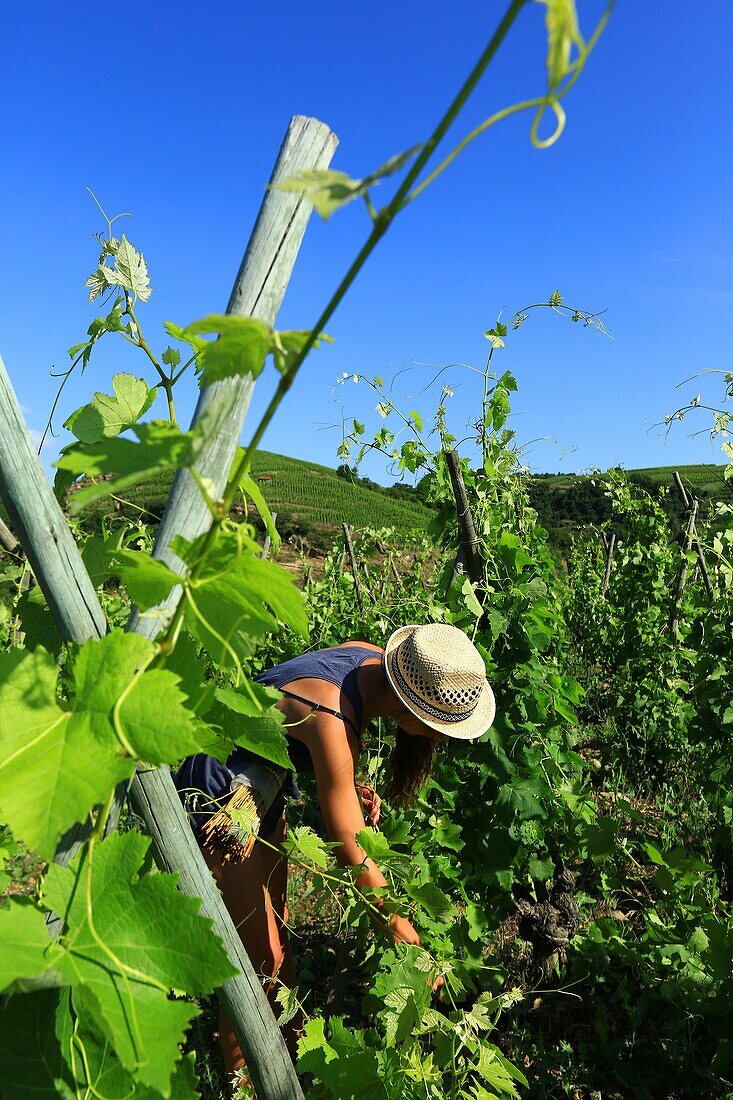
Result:
[[[384,648],[384,668],[405,706],[446,737],[480,737],[494,721],[483,658],[458,627],[400,627]]]

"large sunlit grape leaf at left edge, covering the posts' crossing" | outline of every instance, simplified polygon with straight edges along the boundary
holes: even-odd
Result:
[[[133,773],[125,744],[153,763],[200,751],[177,676],[138,674],[154,652],[152,642],[121,630],[86,642],[74,666],[76,693],[64,703],[46,650],[0,653],[0,806],[13,833],[45,859],[69,825]],[[123,743],[113,708],[128,688],[118,718]]]

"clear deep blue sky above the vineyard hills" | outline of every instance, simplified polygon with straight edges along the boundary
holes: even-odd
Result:
[[[586,32],[602,7],[579,0]],[[163,320],[185,324],[226,306],[292,114],[328,122],[340,139],[333,166],[363,175],[428,135],[503,10],[491,0],[4,6],[0,354],[30,426],[46,419],[50,367],[68,363],[95,316],[83,284],[103,224],[87,186],[108,212],[134,212],[124,231],[155,288],[141,322],[162,349]],[[566,100],[560,142],[533,148],[528,117],[515,118],[398,219],[332,319],[333,346],[308,362],[264,446],[336,464],[339,432],[322,430],[340,420],[336,398],[346,415],[378,419],[364,387],[332,394],[338,375],[480,365],[481,333],[500,310],[558,287],[573,305],[605,309],[613,340],[538,315],[507,341],[497,365],[518,380],[519,439],[557,441],[535,443],[532,466],[720,461],[707,438],[690,438],[702,417],[667,441],[653,426],[696,392],[677,383],[730,369],[732,42],[730,0],[619,0]],[[544,59],[544,9],[528,3],[452,141],[540,94]],[[380,190],[382,201],[389,186]],[[357,204],[328,224],[314,216],[281,328],[315,321],[368,228]],[[108,340],[67,387],[58,426],[117,371],[145,373],[142,356]],[[402,391],[431,373],[415,366]],[[460,437],[479,393],[466,372],[447,377]],[[258,383],[250,426],[273,382]],[[178,395],[187,425],[193,384]],[[425,416],[433,404],[408,402]],[[164,415],[162,400],[156,408]],[[364,472],[382,480],[375,465]]]

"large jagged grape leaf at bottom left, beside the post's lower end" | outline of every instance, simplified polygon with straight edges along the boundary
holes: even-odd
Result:
[[[94,927],[77,887],[78,858],[68,868],[48,868],[43,900],[66,924],[58,969],[74,988],[75,1005],[91,1014],[136,1080],[165,1094],[178,1045],[198,1012],[171,1000],[165,988],[210,993],[236,971],[211,922],[198,915],[200,900],[179,893],[174,875],[140,875],[149,846],[136,833],[96,845]]]

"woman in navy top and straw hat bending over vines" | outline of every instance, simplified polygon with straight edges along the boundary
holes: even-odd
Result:
[[[359,887],[386,886],[355,839],[364,827],[355,784],[362,730],[373,718],[394,718],[397,730],[387,794],[396,804],[409,804],[429,774],[436,740],[480,737],[493,721],[494,697],[481,654],[456,627],[406,626],[395,630],[384,650],[348,641],[285,661],[260,675],[259,682],[282,692],[277,706],[285,715],[289,756],[297,771],[315,777],[328,836],[338,845],[338,862],[361,868]],[[233,752],[226,766],[204,755],[184,762],[175,782],[199,838],[207,818],[231,798],[232,781],[249,782],[249,770],[256,785],[252,769],[263,768],[272,766],[245,749]],[[249,856],[233,859],[223,849],[205,848],[205,854],[254,969],[272,985],[280,976],[292,987],[295,976],[285,935],[287,862],[278,848],[285,837],[292,778],[276,770],[275,774],[277,789],[262,817],[260,836],[276,850],[255,845]],[[190,799],[192,791],[198,792],[197,802]],[[371,824],[376,825],[379,798],[366,790],[362,799]],[[419,944],[413,925],[396,913],[385,920],[384,928],[395,943]],[[223,1015],[220,1034],[227,1069],[240,1069],[242,1055]]]

